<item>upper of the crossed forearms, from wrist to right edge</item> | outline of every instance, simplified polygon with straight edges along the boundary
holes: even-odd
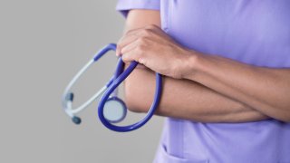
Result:
[[[193,57],[189,63],[192,73],[185,78],[269,117],[290,121],[290,69],[256,67],[214,55]]]

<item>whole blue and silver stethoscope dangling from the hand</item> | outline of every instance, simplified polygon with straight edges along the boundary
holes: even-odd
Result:
[[[135,69],[138,62],[131,62],[129,67],[124,71],[124,62],[122,62],[121,58],[119,58],[117,62],[117,68],[113,76],[111,77],[111,80],[107,82],[105,86],[102,87],[100,91],[97,91],[92,98],[90,98],[88,101],[84,102],[80,107],[73,109],[73,92],[71,91],[74,83],[82,76],[84,72],[86,72],[89,67],[91,67],[92,63],[99,61],[102,56],[109,52],[109,51],[115,51],[116,50],[116,44],[110,43],[104,48],[102,48],[101,51],[95,54],[95,56],[92,58],[90,62],[85,64],[81,71],[78,72],[74,77],[73,80],[68,84],[65,91],[63,92],[63,110],[66,112],[67,115],[71,117],[73,122],[75,124],[80,124],[82,122],[81,118],[75,116],[76,113],[80,112],[81,110],[85,109],[87,106],[89,106],[92,101],[95,101],[100,95],[102,95],[101,101],[99,102],[98,106],[98,115],[99,119],[102,121],[102,124],[107,127],[108,129],[119,131],[119,132],[126,132],[131,131],[134,129],[139,129],[141,126],[143,126],[150,118],[153,116],[154,111],[157,109],[159,102],[160,102],[160,96],[161,96],[161,75],[159,73],[156,73],[156,89],[155,89],[155,95],[154,100],[151,104],[150,110],[148,111],[147,115],[140,120],[139,122],[136,122],[134,124],[131,124],[129,126],[116,126],[112,123],[118,123],[121,120],[124,120],[127,114],[127,107],[126,104],[121,101],[120,98],[117,97],[118,91],[116,88],[123,82]],[[103,93],[104,92],[104,93]],[[103,93],[103,94],[102,94]]]

